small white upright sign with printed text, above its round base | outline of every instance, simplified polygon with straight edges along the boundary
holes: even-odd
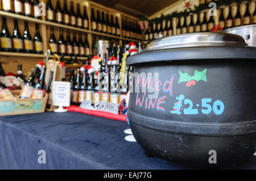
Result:
[[[69,107],[70,106],[70,82],[53,82],[53,106]]]

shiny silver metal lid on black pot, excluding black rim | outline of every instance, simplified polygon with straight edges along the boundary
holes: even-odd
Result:
[[[224,45],[247,44],[241,36],[231,33],[185,33],[182,35],[166,36],[160,39],[153,40],[146,45],[146,48],[143,51]]]

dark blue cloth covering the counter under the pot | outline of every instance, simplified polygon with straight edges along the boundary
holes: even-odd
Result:
[[[146,157],[123,121],[77,112],[0,117],[0,169],[189,169]],[[39,163],[39,150],[46,163]],[[256,157],[228,169],[256,169]]]

